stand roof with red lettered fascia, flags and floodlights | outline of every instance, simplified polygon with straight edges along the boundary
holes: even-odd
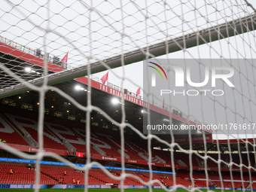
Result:
[[[15,47],[12,47],[14,45]],[[15,75],[19,76],[20,78],[23,78],[24,81],[30,81],[30,83],[32,84],[34,81],[37,81],[38,79],[44,76],[43,67],[45,55],[47,55],[47,73],[49,75],[53,75],[56,72],[61,72],[66,69],[66,63],[65,66],[63,66],[60,62],[60,59],[56,59],[54,56],[50,56],[50,54],[48,53],[42,54],[41,50],[31,50],[29,47],[25,47],[20,44],[15,44],[15,42],[3,37],[0,51],[0,62],[2,62],[3,66],[10,69],[11,72],[14,72]],[[20,82],[13,78],[11,75],[9,75],[7,72],[1,71],[0,75],[1,92],[5,92],[6,89],[13,89],[13,87],[17,85],[20,86]],[[93,76],[91,76],[90,78],[92,78],[94,82],[92,83],[92,87],[96,88],[92,90],[93,105],[102,108],[104,111],[108,111],[108,114],[113,116],[115,120],[120,121],[120,105],[114,106],[111,103],[111,99],[113,99],[114,96],[120,98],[120,93],[126,93],[126,119],[128,120],[128,122],[131,122],[133,125],[136,125],[136,127],[142,127],[142,109],[143,107],[147,107],[147,102],[144,102],[140,96],[136,96],[136,94],[131,93],[129,90],[116,87],[114,86],[114,84],[107,85],[109,89],[111,88],[113,90],[113,93],[111,92],[111,94],[107,94],[110,92],[108,90],[105,90],[105,88],[103,89],[104,86],[102,87],[102,84],[99,83],[99,79],[95,79],[93,78]],[[56,84],[55,87],[58,87],[65,93],[69,93],[69,95],[75,98],[75,100],[78,101],[81,105],[86,106],[88,90],[87,84],[88,78],[84,77]],[[93,86],[93,84],[96,85]],[[80,86],[81,90],[75,89],[76,86]],[[24,86],[21,84],[21,87]],[[38,93],[36,93],[35,91],[30,91],[29,93],[20,93],[11,98],[14,99],[17,96],[18,99],[19,96],[22,96],[22,98],[27,98],[27,96],[29,96],[29,99],[25,100],[26,103],[29,105],[38,105]],[[33,98],[31,99],[31,97]],[[65,98],[58,96],[57,93],[54,93],[51,90],[47,92],[45,99],[45,108],[50,109],[53,106],[53,110],[58,109],[63,113],[64,111],[67,111],[67,104],[70,108],[69,114],[82,114],[82,111],[72,108],[72,104],[70,103],[70,101],[67,101]],[[156,107],[155,105],[156,104],[152,105],[151,107],[151,113],[154,114],[152,116],[162,120],[168,119],[169,111],[166,111],[165,109],[170,109],[159,108],[159,106]],[[177,114],[178,113],[173,114],[172,116],[173,123],[177,124],[179,121],[187,123],[187,120],[182,118],[182,114]]]

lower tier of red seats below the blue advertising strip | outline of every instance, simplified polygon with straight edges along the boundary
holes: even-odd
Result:
[[[10,174],[10,169],[14,170],[14,174]],[[64,172],[67,172],[64,175]],[[35,184],[35,169],[29,169],[26,166],[19,165],[9,165],[9,164],[0,164],[0,183],[2,184]],[[127,172],[126,172],[127,173]],[[163,174],[152,174],[148,172],[128,172],[130,175],[135,175],[142,179],[142,181],[148,182],[150,178],[158,180],[167,186],[173,186],[174,184],[180,184],[182,186],[192,185],[189,172],[178,172],[176,175],[163,175]],[[84,184],[84,172],[74,170],[70,167],[52,167],[52,166],[41,166],[40,169],[40,184],[59,184],[59,178],[64,178],[63,184],[73,184],[73,179],[75,181],[80,180],[80,184]],[[111,174],[116,177],[120,177],[120,171],[112,171]],[[200,180],[206,178],[203,176],[203,172],[194,172],[194,187],[205,187],[207,185],[206,181]],[[233,183],[230,180],[229,172],[223,172],[222,176],[223,181],[219,180],[218,173],[209,173],[209,179],[212,180],[214,185],[218,187],[236,187],[239,188],[242,186],[241,175],[239,172],[233,173]],[[243,187],[247,187],[249,184],[248,173],[243,173]],[[254,180],[254,176],[252,178]],[[109,177],[105,172],[100,169],[90,169],[88,174],[88,184],[120,184],[120,180]],[[125,178],[125,185],[140,185],[141,183],[136,178],[128,176]],[[209,186],[212,185],[208,181]],[[153,185],[159,185],[155,182]],[[252,184],[251,187],[255,188],[256,184]]]

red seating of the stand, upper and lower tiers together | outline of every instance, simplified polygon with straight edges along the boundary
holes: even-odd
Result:
[[[91,154],[100,154],[107,157],[120,157],[120,137],[117,133],[109,133],[105,130],[97,130],[96,127],[91,127],[93,133],[91,134],[90,151]],[[37,144],[37,123],[35,117],[29,117],[28,114],[24,113],[18,115],[13,111],[6,110],[5,113],[0,113],[0,133],[1,138],[5,139],[9,144],[14,145],[25,145],[32,146],[31,144]],[[86,140],[85,140],[85,129],[83,126],[69,123],[68,125],[64,121],[58,121],[57,123],[53,120],[46,119],[44,122],[44,148],[54,148],[62,151],[68,151],[63,145],[63,141],[67,141],[75,148],[75,151],[79,151],[86,154]],[[32,143],[29,143],[25,136],[31,136]],[[131,138],[125,140],[125,157],[130,160],[148,160],[147,142],[143,139],[131,142]],[[249,157],[248,162],[247,154],[208,154],[213,160],[221,160],[229,163],[232,158],[234,163],[238,165],[242,162],[245,166],[249,163],[254,166],[254,157]],[[3,157],[3,156],[2,156]],[[207,166],[209,168],[218,169],[218,163],[215,163],[211,158],[207,159]],[[106,161],[107,162],[107,161]],[[152,151],[152,162],[153,163],[171,163],[171,154],[169,151]],[[193,154],[191,158],[194,169],[200,169],[205,167],[205,162],[202,158]],[[104,164],[105,162],[102,162]],[[192,181],[190,179],[190,173],[187,170],[190,168],[190,158],[188,154],[174,152],[174,163],[175,166],[179,167],[177,174],[175,175],[176,184],[184,186],[191,186]],[[107,163],[107,165],[115,166],[116,163]],[[14,168],[14,175],[9,175],[8,170]],[[128,166],[128,165],[127,165]],[[136,165],[137,166],[137,165]],[[135,167],[136,167],[135,166]],[[220,164],[221,168],[228,168],[224,163]],[[132,166],[133,167],[133,166]],[[2,175],[0,175],[0,182],[5,184],[33,184],[35,183],[35,169],[28,169],[25,166],[17,165],[0,165]],[[67,169],[68,174],[63,175],[66,168],[52,167],[52,166],[41,166],[41,184],[58,184],[59,178],[64,178],[63,184],[72,184],[72,179],[75,178],[84,184],[84,173],[75,171],[74,169]],[[147,169],[147,167],[145,167]],[[154,167],[154,169],[157,169]],[[239,167],[237,172],[233,172],[233,178],[230,177],[230,172],[222,172],[222,184],[223,187],[256,187],[256,184],[252,183],[249,186],[248,172],[240,175]],[[136,175],[143,181],[148,181],[150,175],[145,172],[129,172],[132,175]],[[112,172],[114,175],[120,175],[120,172]],[[221,180],[217,172],[208,171],[209,174],[209,186],[221,187]],[[254,174],[252,174],[254,177]],[[205,187],[207,185],[205,171],[194,171],[194,186]],[[153,174],[153,179],[157,179],[167,186],[172,186],[174,180],[173,175],[160,175]],[[233,179],[233,183],[231,182]],[[88,178],[89,184],[120,184],[120,181],[116,181],[105,175],[105,172],[101,170],[92,169],[89,172]],[[124,181],[126,185],[138,185],[139,181],[134,178],[126,178]],[[159,185],[159,184],[154,184]]]

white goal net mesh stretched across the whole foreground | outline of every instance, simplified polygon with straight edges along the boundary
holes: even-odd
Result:
[[[0,96],[5,98],[23,91],[35,90],[38,92],[38,103],[40,103],[38,107],[38,153],[28,155],[22,151],[14,151],[14,154],[33,160],[42,160],[44,156],[48,156],[69,163],[57,154],[43,151],[44,105],[46,105],[44,98],[48,90],[54,90],[76,108],[87,112],[85,126],[87,163],[83,168],[74,164],[70,165],[74,169],[85,171],[85,184],[88,181],[90,166],[101,166],[90,159],[90,120],[92,120],[90,112],[97,111],[120,130],[122,173],[117,176],[101,168],[110,178],[121,181],[122,191],[123,182],[127,176],[138,180],[142,185],[148,185],[149,190],[154,183],[165,188],[161,181],[153,179],[154,175],[151,172],[152,158],[156,158],[152,155],[152,140],[157,140],[162,147],[166,146],[171,149],[172,172],[177,171],[175,161],[178,159],[175,159],[175,153],[181,151],[182,154],[189,154],[187,166],[189,166],[190,173],[187,178],[191,181],[190,185],[193,190],[196,187],[194,181],[202,181],[198,179],[197,174],[194,175],[194,154],[200,162],[197,162],[200,168],[205,170],[206,180],[203,181],[207,181],[207,187],[209,184],[214,184],[214,181],[210,181],[214,180],[211,178],[212,174],[207,171],[210,167],[209,159],[218,163],[218,179],[215,179],[215,183],[219,182],[219,187],[227,187],[225,178],[221,176],[221,170],[224,167],[230,170],[230,179],[227,180],[231,182],[230,187],[233,187],[233,190],[236,179],[233,179],[232,167],[239,169],[239,184],[241,183],[242,188],[251,187],[254,176],[251,172],[254,172],[256,163],[254,140],[248,140],[253,137],[252,129],[245,129],[243,132],[239,131],[232,135],[223,132],[215,134],[216,145],[211,150],[217,151],[218,158],[207,152],[210,148],[207,145],[206,134],[203,132],[203,150],[200,149],[203,154],[200,154],[199,150],[194,148],[190,131],[187,141],[189,148],[179,145],[172,132],[167,133],[169,140],[160,139],[151,133],[143,135],[141,127],[135,127],[126,122],[126,105],[121,105],[120,121],[114,120],[114,117],[103,111],[100,106],[92,105],[93,90],[90,80],[93,78],[93,73],[109,69],[113,77],[112,81],[109,80],[110,83],[120,87],[121,91],[124,91],[125,87],[136,90],[134,87],[142,86],[142,79],[139,78],[142,74],[142,60],[157,56],[157,59],[192,59],[198,76],[196,81],[202,82],[206,67],[202,62],[203,59],[209,59],[210,66],[213,65],[215,59],[220,59],[218,60],[221,62],[220,66],[230,66],[236,74],[236,78],[231,79],[236,85],[232,89],[227,87],[225,81],[219,84],[226,93],[224,96],[200,94],[194,99],[187,95],[181,99],[166,97],[166,106],[163,107],[163,98],[157,96],[152,98],[151,95],[148,96],[148,93],[142,93],[141,95],[145,94],[146,98],[142,100],[164,108],[166,111],[173,112],[175,108],[178,113],[182,112],[181,116],[187,120],[185,123],[188,124],[190,120],[196,120],[196,122],[216,125],[230,126],[231,123],[234,126],[236,123],[236,126],[239,126],[245,123],[247,128],[248,125],[253,126],[256,112],[254,11],[253,5],[247,1],[2,1],[0,8],[0,26],[2,26]],[[17,50],[20,50],[21,54],[17,54]],[[65,56],[68,56],[68,61]],[[136,63],[133,68],[125,66],[131,63]],[[111,69],[117,66],[122,66],[122,68]],[[188,64],[185,61],[184,67],[186,66]],[[136,73],[135,69],[141,71]],[[171,75],[173,75],[172,72]],[[105,72],[96,76],[101,78],[102,74],[104,75]],[[85,75],[90,77],[87,83],[86,105],[81,105],[57,87],[48,85]],[[190,85],[187,81],[184,83],[186,90],[189,90]],[[112,84],[108,86],[113,86]],[[195,89],[198,90],[197,87]],[[123,97],[120,102],[124,102]],[[150,114],[148,117],[151,118]],[[148,142],[149,181],[143,181],[139,176],[124,170],[126,158],[124,129],[127,126]],[[172,142],[168,142],[170,139]],[[227,139],[227,145],[221,145],[220,139]],[[230,144],[230,139],[236,139],[236,144]],[[8,145],[0,143],[0,146],[13,151]],[[226,151],[229,155],[221,157],[220,151]],[[233,160],[231,151],[238,151],[239,161]],[[244,157],[245,154],[247,157]],[[246,163],[243,162],[245,159]],[[40,166],[39,163],[36,164],[38,170]],[[243,172],[245,170],[249,172],[248,177],[246,176],[246,179],[250,181],[249,184],[244,182]],[[39,176],[40,172],[37,172],[36,184],[39,184]],[[187,187],[186,184],[177,181],[175,174],[172,175],[172,180],[174,190],[177,187]]]

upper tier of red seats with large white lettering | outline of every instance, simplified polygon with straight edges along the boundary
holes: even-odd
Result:
[[[28,115],[27,115],[28,116]],[[120,136],[111,133],[110,136],[107,131],[96,130],[92,127],[91,141],[90,141],[90,153],[100,154],[100,151],[109,157],[120,157]],[[0,133],[1,138],[8,143],[17,145],[28,145],[28,143],[23,139],[25,135],[29,135],[38,142],[38,126],[34,119],[29,117],[20,117],[17,114],[5,114],[0,113]],[[74,127],[66,126],[64,122],[53,123],[44,122],[44,148],[54,148],[63,151],[68,151],[68,149],[62,144],[62,140],[69,141],[70,145],[76,148],[76,151],[87,153],[85,130],[84,127],[74,125]],[[133,142],[131,142],[133,141]],[[148,148],[147,142],[144,139],[125,139],[125,154],[126,158],[133,160],[148,160]],[[204,154],[200,154],[204,155]],[[190,163],[190,155],[175,152],[174,153],[174,163],[177,166],[183,166],[185,169],[190,166],[194,167],[215,167],[218,168],[218,154],[208,154],[207,165],[203,158],[193,155]],[[240,158],[241,157],[241,158]],[[248,166],[255,165],[254,155],[250,154],[248,159],[247,154],[221,154],[221,160],[226,163],[230,162],[230,159],[236,164],[244,164]],[[153,163],[166,163],[171,164],[171,155],[169,151],[158,151],[152,150]],[[221,167],[226,167],[224,163],[221,163]]]

